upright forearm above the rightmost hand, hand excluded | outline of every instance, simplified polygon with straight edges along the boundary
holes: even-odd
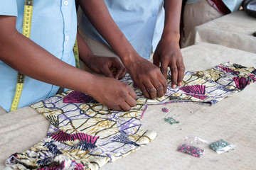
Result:
[[[170,40],[179,40],[179,26],[181,21],[181,6],[182,1],[165,0],[165,21],[164,32],[162,38],[169,38]]]

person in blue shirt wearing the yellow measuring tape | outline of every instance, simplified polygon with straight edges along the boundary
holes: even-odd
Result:
[[[93,55],[77,35],[74,0],[34,1],[31,39],[21,34],[24,0],[0,0],[0,4],[0,106],[4,110],[10,110],[17,71],[26,75],[18,108],[53,96],[59,86],[88,94],[117,111],[136,105],[132,88],[117,81],[126,73],[123,65],[114,57]],[[75,38],[80,60],[107,77],[74,67]]]

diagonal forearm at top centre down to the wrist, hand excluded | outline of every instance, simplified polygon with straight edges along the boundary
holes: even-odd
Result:
[[[139,57],[132,45],[121,30],[119,30],[116,23],[110,16],[110,13],[103,0],[80,0],[82,11],[90,19],[96,30],[102,35],[107,43],[112,47],[114,52],[120,57],[124,65],[128,61],[135,60]]]

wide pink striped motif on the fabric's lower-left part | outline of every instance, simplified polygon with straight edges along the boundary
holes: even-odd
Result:
[[[54,140],[57,140],[59,142],[63,142],[63,141],[74,141],[74,140],[82,140],[82,141],[86,141],[89,142],[91,144],[95,144],[97,142],[97,139],[99,137],[93,137],[91,135],[87,135],[85,133],[74,133],[74,134],[68,134],[66,132],[63,132],[62,130],[60,130],[60,132],[55,133],[54,135],[51,136]]]

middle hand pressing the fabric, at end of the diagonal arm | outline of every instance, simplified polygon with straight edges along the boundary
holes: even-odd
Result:
[[[164,96],[167,91],[167,81],[160,69],[142,57],[126,64],[127,70],[134,83],[141,89],[146,98],[156,99]]]

